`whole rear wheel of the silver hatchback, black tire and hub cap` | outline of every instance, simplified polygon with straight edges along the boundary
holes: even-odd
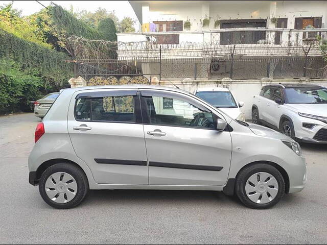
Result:
[[[59,180],[57,176],[60,176]],[[62,189],[60,190],[60,188]],[[71,163],[56,163],[48,167],[42,173],[39,181],[42,199],[57,209],[68,209],[79,205],[85,198],[88,189],[87,177],[83,170]],[[56,195],[52,198],[54,194]]]

